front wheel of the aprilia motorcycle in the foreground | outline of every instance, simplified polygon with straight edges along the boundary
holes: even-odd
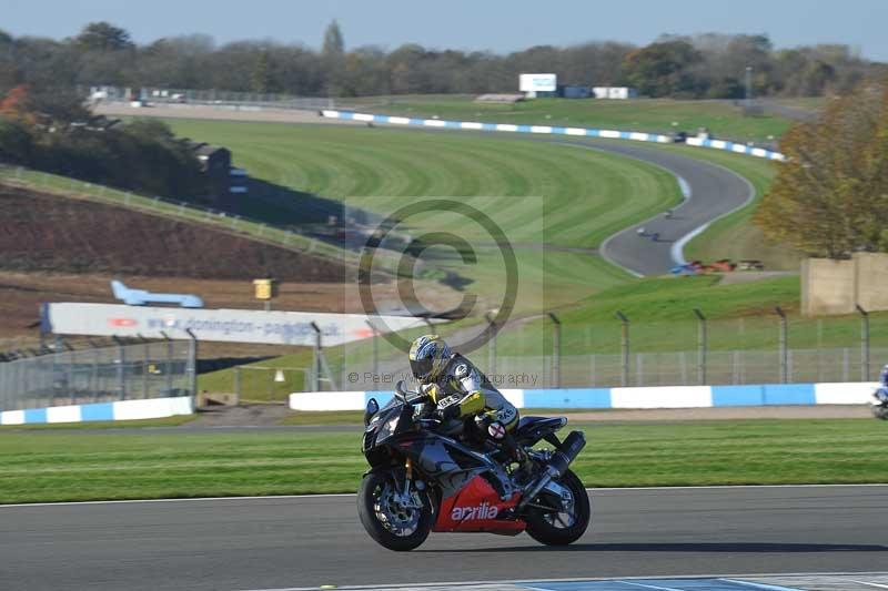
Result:
[[[371,538],[397,552],[417,548],[434,524],[428,495],[414,489],[404,498],[391,472],[371,472],[364,477],[357,491],[357,516]]]

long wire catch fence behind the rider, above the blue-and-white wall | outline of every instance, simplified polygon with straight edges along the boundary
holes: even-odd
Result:
[[[771,313],[713,322],[700,314],[696,322],[576,326],[549,318],[515,323],[463,353],[497,388],[522,389],[874,381],[888,361],[884,314],[810,319]],[[465,328],[437,325],[403,336],[431,330],[458,343]],[[323,364],[317,359],[304,386],[290,383],[292,391],[384,390],[412,379],[406,354],[381,336],[345,351],[329,349]],[[242,395],[249,398],[248,390]]]

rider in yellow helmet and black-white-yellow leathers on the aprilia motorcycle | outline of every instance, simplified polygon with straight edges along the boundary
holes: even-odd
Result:
[[[442,422],[474,419],[476,432],[504,449],[512,461],[527,458],[512,437],[518,410],[472,361],[453,353],[437,335],[423,335],[410,348],[410,367]]]

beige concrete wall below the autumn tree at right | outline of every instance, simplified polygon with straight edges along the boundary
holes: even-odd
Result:
[[[801,262],[801,314],[852,314],[888,309],[888,254],[855,253],[849,261],[807,258]]]

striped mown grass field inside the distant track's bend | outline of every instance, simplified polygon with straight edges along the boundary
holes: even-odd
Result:
[[[403,197],[543,197],[546,243],[595,247],[680,201],[675,179],[642,162],[529,140],[420,130],[168,121],[178,135],[232,150],[251,176],[325,198],[389,210]],[[626,198],[632,195],[632,198]],[[386,212],[387,213],[387,212]],[[503,200],[512,228],[534,222]],[[509,236],[512,238],[513,236]],[[514,234],[516,240],[521,234]]]

